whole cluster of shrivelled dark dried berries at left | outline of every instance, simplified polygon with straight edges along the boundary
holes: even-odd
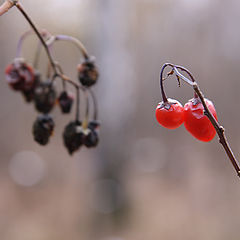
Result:
[[[94,115],[92,121],[88,120],[88,110],[84,120],[79,119],[79,94],[80,90],[88,92],[86,96],[93,96],[89,89],[97,82],[98,71],[96,69],[93,58],[85,57],[84,61],[77,66],[79,83],[73,83],[77,90],[76,119],[68,123],[63,132],[63,142],[68,152],[72,154],[81,146],[87,148],[95,147],[98,144],[99,122],[97,114]],[[5,70],[6,81],[9,86],[22,93],[26,102],[33,102],[35,109],[41,113],[33,123],[32,133],[34,140],[41,145],[49,142],[55,123],[49,115],[53,108],[58,105],[63,114],[71,112],[75,96],[66,90],[68,80],[64,79],[61,73],[55,72],[49,79],[43,81],[42,75],[37,69],[28,64],[23,58],[15,58],[14,61],[7,66]],[[58,94],[55,88],[55,79],[61,79],[63,90]],[[70,81],[72,83],[72,81]],[[89,92],[91,94],[89,94]],[[95,99],[95,98],[94,98]],[[87,99],[88,102],[88,99]],[[96,101],[95,101],[96,110]],[[88,108],[88,106],[87,106]]]

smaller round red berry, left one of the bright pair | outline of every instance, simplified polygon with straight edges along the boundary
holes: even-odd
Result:
[[[178,128],[184,121],[184,109],[180,102],[168,98],[168,102],[160,102],[156,108],[157,121],[166,128]]]

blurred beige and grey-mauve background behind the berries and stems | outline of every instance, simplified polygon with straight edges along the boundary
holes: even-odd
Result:
[[[1,1],[3,2],[3,1]],[[33,141],[37,112],[7,85],[4,69],[28,23],[11,9],[0,20],[1,240],[238,239],[240,180],[218,143],[155,120],[165,62],[187,67],[216,107],[240,159],[240,1],[20,1],[39,28],[81,39],[96,57],[100,143],[72,157],[62,131],[74,118],[56,108],[50,143]],[[36,37],[24,43],[31,62]],[[76,78],[80,54],[56,43],[54,58]],[[41,68],[47,63],[41,56]],[[171,79],[184,104],[192,90]]]

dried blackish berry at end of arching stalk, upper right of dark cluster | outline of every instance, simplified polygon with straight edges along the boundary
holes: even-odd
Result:
[[[78,79],[83,86],[90,87],[97,82],[99,74],[93,59],[86,59],[77,69]]]

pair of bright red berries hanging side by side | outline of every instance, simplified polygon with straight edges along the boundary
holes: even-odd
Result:
[[[209,111],[217,120],[213,103],[204,99]],[[216,130],[206,115],[204,107],[198,98],[190,99],[184,107],[177,100],[168,98],[160,102],[156,108],[156,118],[162,126],[175,129],[184,123],[185,128],[198,140],[209,142],[216,135]]]

